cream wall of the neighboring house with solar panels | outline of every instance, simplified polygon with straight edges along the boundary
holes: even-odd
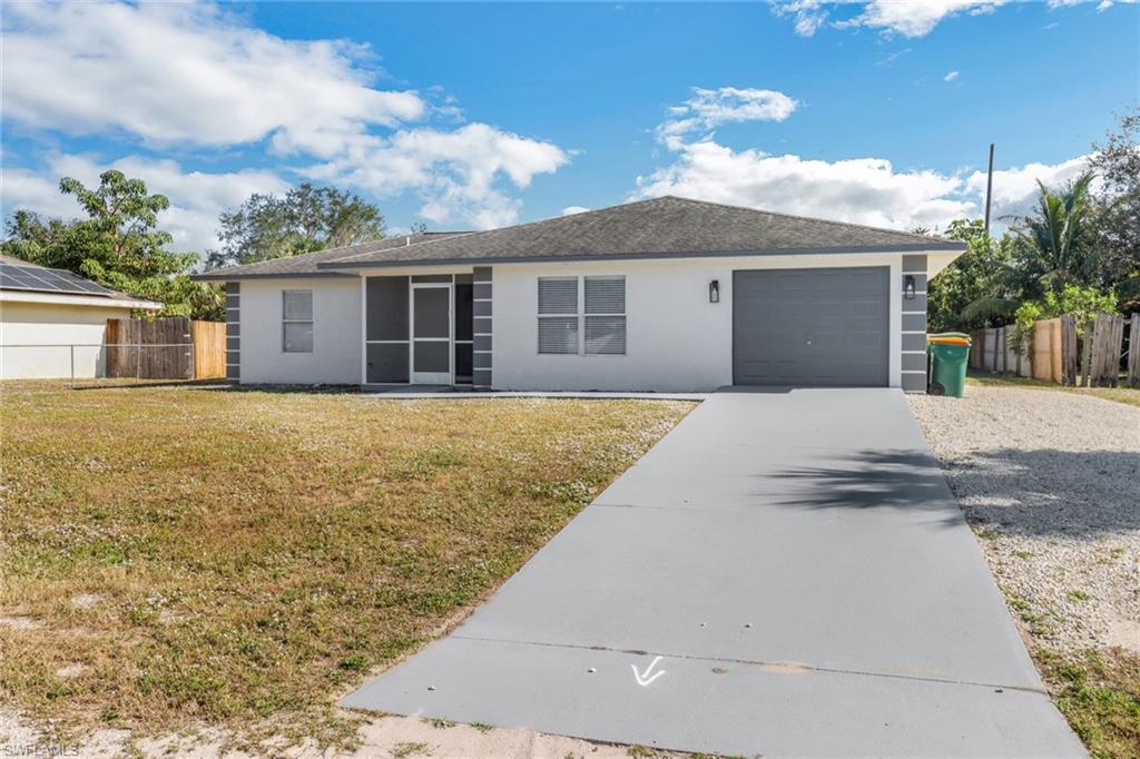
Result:
[[[129,308],[66,305],[0,299],[0,378],[101,376],[107,319],[130,316]]]

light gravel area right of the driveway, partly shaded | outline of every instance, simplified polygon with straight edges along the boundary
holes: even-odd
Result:
[[[907,398],[1025,628],[1064,652],[1140,652],[1140,408],[1013,387]]]

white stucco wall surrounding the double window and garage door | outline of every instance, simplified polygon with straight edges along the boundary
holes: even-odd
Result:
[[[889,381],[899,385],[898,253],[496,264],[494,386],[499,390],[708,391],[732,384],[732,272],[889,267]],[[625,356],[540,356],[538,277],[625,275]],[[709,303],[709,281],[720,302]]]

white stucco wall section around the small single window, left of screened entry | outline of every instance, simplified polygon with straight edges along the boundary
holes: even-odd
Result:
[[[312,291],[312,352],[282,350],[282,291]],[[360,280],[249,279],[241,291],[242,384],[359,384]]]

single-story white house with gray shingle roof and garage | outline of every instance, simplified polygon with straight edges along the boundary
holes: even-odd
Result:
[[[963,250],[662,197],[198,278],[227,286],[233,382],[923,391],[927,281]]]

